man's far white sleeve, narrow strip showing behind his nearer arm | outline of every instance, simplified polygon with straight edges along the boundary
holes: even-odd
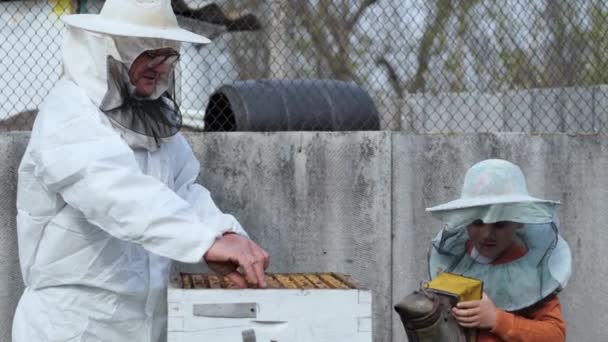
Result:
[[[234,216],[224,214],[213,202],[211,194],[196,183],[200,164],[183,135],[177,134],[172,142],[175,157],[175,192],[186,200],[201,222],[219,229],[219,234],[232,232],[248,236]]]

